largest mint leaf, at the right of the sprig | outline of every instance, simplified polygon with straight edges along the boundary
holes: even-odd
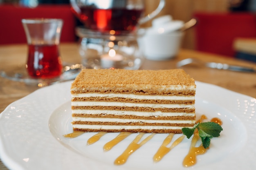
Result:
[[[213,137],[220,136],[220,132],[223,130],[219,124],[215,122],[203,122],[198,125],[198,130],[202,130],[205,133],[212,135]]]

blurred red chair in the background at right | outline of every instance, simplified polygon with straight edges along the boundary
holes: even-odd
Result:
[[[195,13],[198,51],[235,57],[234,39],[256,37],[256,16],[252,13]]]

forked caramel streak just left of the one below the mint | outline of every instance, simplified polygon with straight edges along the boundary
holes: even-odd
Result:
[[[153,157],[153,161],[158,162],[160,161],[164,155],[166,155],[170,150],[172,150],[175,146],[180,144],[180,142],[184,139],[185,135],[182,135],[178,139],[176,139],[173,144],[170,147],[166,147],[168,144],[170,144],[172,138],[173,138],[173,133],[170,133],[163,141],[163,144],[160,146],[160,148],[157,150],[156,154]]]

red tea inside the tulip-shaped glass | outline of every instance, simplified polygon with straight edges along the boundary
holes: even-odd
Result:
[[[57,45],[29,45],[27,71],[30,77],[54,78],[62,73]]]

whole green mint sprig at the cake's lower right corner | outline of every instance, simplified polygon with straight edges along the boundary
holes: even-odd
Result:
[[[195,124],[193,128],[182,128],[182,132],[189,139],[195,129],[198,129],[198,135],[202,140],[204,148],[210,146],[211,138],[220,136],[220,132],[223,130],[222,127],[215,122],[202,122]]]

